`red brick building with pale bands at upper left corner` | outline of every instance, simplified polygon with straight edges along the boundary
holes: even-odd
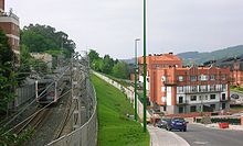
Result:
[[[0,30],[9,37],[9,44],[13,53],[20,56],[20,27],[19,18],[10,10],[4,11],[4,0],[0,0]]]

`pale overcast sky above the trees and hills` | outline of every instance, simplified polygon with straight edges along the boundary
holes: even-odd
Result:
[[[6,0],[21,27],[64,31],[77,50],[134,56],[142,38],[142,0]],[[209,52],[243,44],[243,0],[148,0],[148,53]],[[142,43],[142,42],[140,42]],[[139,45],[139,55],[142,54]]]

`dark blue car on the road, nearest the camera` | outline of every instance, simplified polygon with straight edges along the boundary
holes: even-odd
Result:
[[[187,132],[187,124],[188,122],[184,121],[183,117],[172,117],[170,122],[167,123],[167,130],[179,130]]]

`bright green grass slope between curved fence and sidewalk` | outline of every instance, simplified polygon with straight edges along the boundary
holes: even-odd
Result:
[[[134,114],[131,104],[119,90],[92,75],[98,101],[99,146],[149,146],[149,134],[126,114]]]

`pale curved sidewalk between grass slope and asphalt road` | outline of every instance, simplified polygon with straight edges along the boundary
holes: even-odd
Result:
[[[183,138],[173,132],[168,132],[151,125],[147,127],[151,139],[150,146],[190,146]]]

